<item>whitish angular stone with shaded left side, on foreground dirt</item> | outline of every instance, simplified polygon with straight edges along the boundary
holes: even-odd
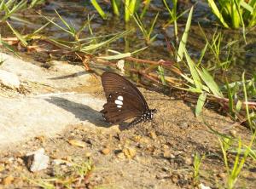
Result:
[[[44,155],[44,148],[26,154],[26,165],[32,172],[37,172],[48,167],[49,156]]]

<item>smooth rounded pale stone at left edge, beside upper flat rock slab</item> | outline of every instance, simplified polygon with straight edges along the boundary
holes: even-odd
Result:
[[[15,73],[0,70],[0,83],[10,89],[18,89],[20,87],[19,77]]]

